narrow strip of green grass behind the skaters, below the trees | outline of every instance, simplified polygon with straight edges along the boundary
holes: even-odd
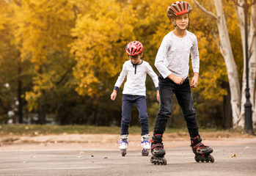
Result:
[[[150,127],[150,132],[153,131],[153,127]],[[224,131],[216,128],[200,129],[200,132],[215,132]],[[232,129],[226,130],[234,132]],[[167,128],[165,133],[187,133],[186,128]],[[237,132],[237,131],[236,131]],[[15,135],[38,135],[38,134],[61,134],[61,133],[109,133],[119,134],[120,127],[106,127],[106,126],[91,126],[91,125],[0,125],[0,135],[15,134]],[[140,134],[141,128],[138,126],[132,126],[129,128],[129,133]]]

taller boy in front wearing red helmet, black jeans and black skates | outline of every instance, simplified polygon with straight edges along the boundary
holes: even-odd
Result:
[[[194,100],[191,95],[191,87],[196,88],[198,84],[200,58],[197,47],[197,37],[189,32],[189,13],[191,6],[186,1],[176,1],[169,5],[167,17],[172,21],[175,29],[169,32],[158,49],[155,66],[160,76],[159,95],[160,109],[156,117],[156,123],[151,140],[151,163],[167,164],[164,158],[165,151],[162,136],[165,131],[167,120],[172,114],[172,95],[175,94],[178,103],[183,111],[184,120],[189,130],[191,147],[195,154],[195,160],[213,162],[210,155],[213,152],[211,147],[202,144],[200,138]],[[189,56],[194,76],[189,84]]]

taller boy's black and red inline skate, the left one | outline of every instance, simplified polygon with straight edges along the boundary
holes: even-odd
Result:
[[[155,134],[151,140],[151,153],[152,157],[150,158],[150,162],[152,164],[161,164],[167,165],[167,159],[164,158],[165,150],[164,145],[162,143],[162,134]]]

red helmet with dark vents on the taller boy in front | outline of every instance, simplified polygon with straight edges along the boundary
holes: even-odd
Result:
[[[186,1],[176,1],[169,5],[167,9],[167,17],[169,19],[175,18],[178,15],[183,15],[184,13],[190,13],[192,11],[191,6]]]

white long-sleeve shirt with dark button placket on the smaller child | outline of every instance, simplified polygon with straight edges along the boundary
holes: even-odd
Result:
[[[114,84],[114,89],[118,89],[127,76],[127,81],[122,90],[122,94],[146,95],[145,81],[147,74],[153,79],[156,89],[158,89],[158,76],[153,71],[148,62],[142,60],[140,65],[133,65],[130,60],[122,65],[122,71]]]

